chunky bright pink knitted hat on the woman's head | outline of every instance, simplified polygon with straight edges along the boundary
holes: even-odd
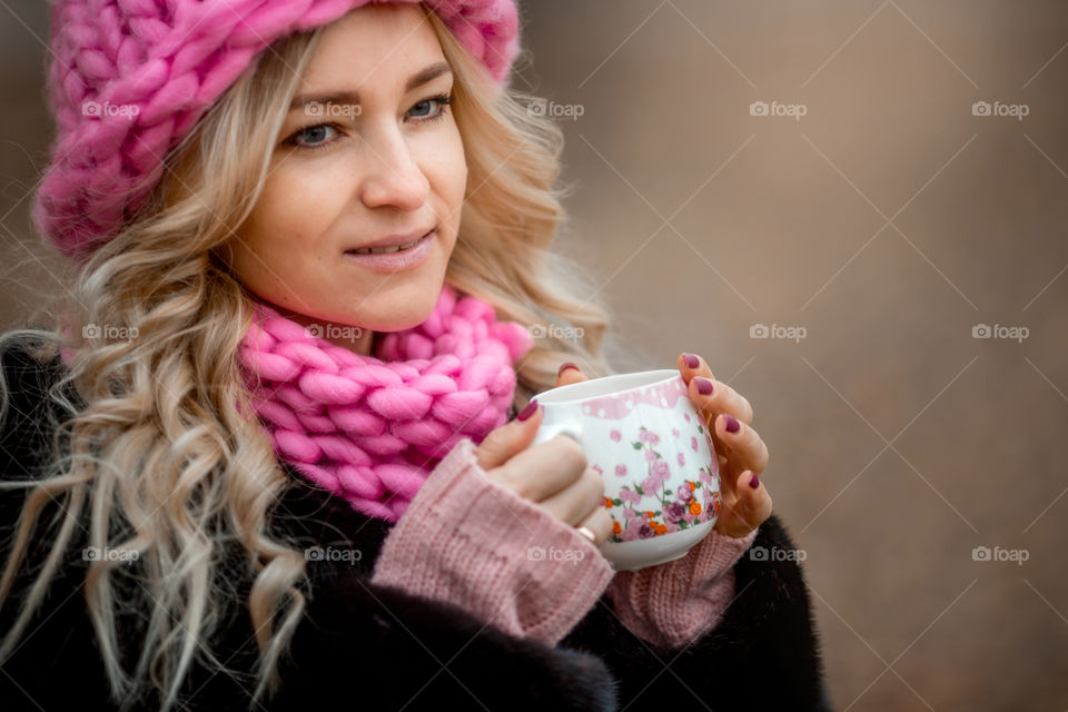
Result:
[[[167,154],[271,42],[368,2],[418,0],[50,1],[57,136],[32,217],[73,257],[144,206]],[[514,0],[424,2],[506,86],[518,53]]]

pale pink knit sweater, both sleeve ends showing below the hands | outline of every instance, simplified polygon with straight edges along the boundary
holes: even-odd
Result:
[[[507,633],[555,645],[607,590],[644,640],[680,646],[713,629],[734,596],[734,563],[756,532],[711,532],[682,558],[615,572],[596,546],[491,481],[462,439],[394,524],[372,581],[452,603]]]

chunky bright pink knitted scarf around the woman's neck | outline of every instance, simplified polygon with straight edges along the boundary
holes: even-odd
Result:
[[[363,356],[265,304],[241,345],[256,412],[275,452],[354,510],[396,522],[464,437],[508,417],[513,362],[531,347],[516,322],[449,285],[423,324],[380,335]]]

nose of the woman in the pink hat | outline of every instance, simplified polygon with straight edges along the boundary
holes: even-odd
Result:
[[[368,131],[365,145],[364,205],[368,208],[392,205],[402,210],[422,207],[431,186],[402,129],[393,125]]]

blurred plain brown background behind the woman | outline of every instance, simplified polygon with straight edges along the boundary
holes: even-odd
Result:
[[[617,365],[692,350],[753,404],[834,708],[1068,708],[1068,3],[522,13],[513,86],[567,136],[560,247],[645,354]],[[59,266],[27,196],[47,7],[0,17],[8,327]]]

